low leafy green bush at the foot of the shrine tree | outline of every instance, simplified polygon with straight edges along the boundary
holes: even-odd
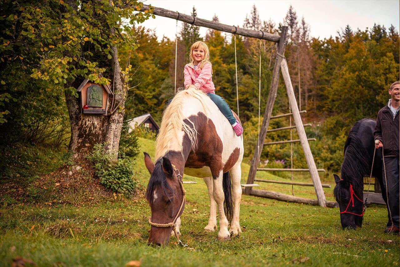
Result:
[[[125,195],[136,190],[138,182],[134,180],[135,163],[132,158],[112,160],[111,155],[104,153],[104,144],[96,144],[87,158],[94,165],[94,174],[105,188]]]

